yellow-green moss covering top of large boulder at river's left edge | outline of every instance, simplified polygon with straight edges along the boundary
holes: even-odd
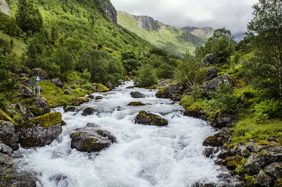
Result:
[[[39,125],[43,126],[44,128],[49,128],[51,126],[57,126],[61,122],[61,112],[54,112],[25,121],[24,123],[20,124],[20,126],[25,128],[32,128]]]

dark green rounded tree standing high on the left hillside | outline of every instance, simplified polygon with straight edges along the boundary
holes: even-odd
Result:
[[[20,28],[32,33],[38,32],[43,25],[43,19],[39,13],[39,9],[35,8],[32,3],[27,0],[18,1],[18,11],[16,11],[16,21]]]

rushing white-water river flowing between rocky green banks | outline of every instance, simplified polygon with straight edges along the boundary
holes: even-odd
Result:
[[[61,107],[63,133],[56,140],[36,149],[20,148],[14,157],[20,169],[33,171],[39,187],[188,187],[196,181],[216,181],[218,167],[203,156],[204,138],[215,133],[204,121],[183,116],[182,107],[170,99],[158,99],[155,90],[125,89],[125,83],[106,93],[94,93],[104,99],[90,101],[78,111],[65,113]],[[146,98],[134,99],[139,91]],[[140,101],[144,107],[128,107]],[[82,109],[95,113],[82,116]],[[168,126],[135,124],[140,110],[150,111],[168,120]],[[116,136],[114,143],[99,153],[71,149],[70,133],[92,122]]]

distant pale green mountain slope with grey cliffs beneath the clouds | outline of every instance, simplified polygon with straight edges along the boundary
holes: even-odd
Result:
[[[118,11],[118,24],[171,54],[185,54],[187,49],[194,52],[196,47],[206,42],[201,37],[165,25],[149,16],[132,16]]]

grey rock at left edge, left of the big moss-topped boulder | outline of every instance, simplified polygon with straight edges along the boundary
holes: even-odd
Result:
[[[16,125],[11,121],[0,121],[0,141],[13,150],[18,150],[18,135]]]

